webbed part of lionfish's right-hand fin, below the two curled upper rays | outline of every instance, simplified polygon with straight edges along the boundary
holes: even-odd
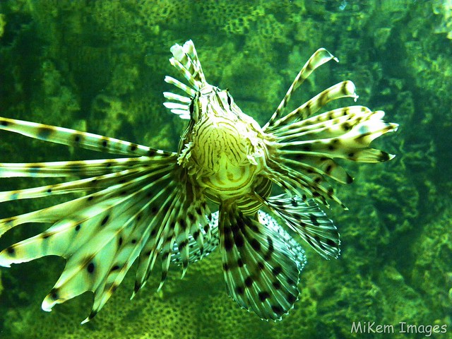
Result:
[[[390,155],[369,144],[398,125],[382,120],[384,113],[363,106],[334,109],[280,126],[272,133],[268,176],[288,194],[314,198],[328,206],[333,200],[345,208],[326,179],[344,184],[353,179],[335,158],[357,162],[383,162]]]

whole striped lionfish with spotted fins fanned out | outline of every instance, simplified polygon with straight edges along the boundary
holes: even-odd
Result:
[[[394,155],[369,143],[398,125],[383,121],[384,112],[359,105],[314,115],[332,100],[356,101],[351,81],[333,85],[283,114],[292,93],[314,69],[331,59],[338,61],[323,48],[299,71],[263,127],[242,112],[228,90],[206,82],[191,40],[174,44],[171,52],[170,63],[189,83],[165,78],[185,93],[164,93],[165,107],[189,120],[177,153],[0,118],[4,131],[124,155],[1,163],[0,177],[72,179],[0,192],[0,201],[73,193],[78,198],[0,220],[0,235],[29,222],[52,224],[1,251],[0,265],[50,255],[65,258],[66,266],[42,309],[51,311],[55,304],[91,291],[93,309],[84,323],[102,309],[137,259],[133,295],[145,285],[157,258],[160,289],[171,265],[182,266],[183,277],[189,263],[219,246],[228,295],[261,319],[279,320],[299,297],[299,275],[306,263],[294,237],[304,239],[324,258],[339,255],[338,230],[319,207],[335,201],[345,208],[326,181],[352,182],[335,159],[391,160]]]

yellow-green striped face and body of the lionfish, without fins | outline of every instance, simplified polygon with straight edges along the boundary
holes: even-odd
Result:
[[[179,163],[215,203],[251,194],[265,167],[261,127],[235,105],[227,90],[210,85],[201,88],[191,109],[196,119],[184,133]]]

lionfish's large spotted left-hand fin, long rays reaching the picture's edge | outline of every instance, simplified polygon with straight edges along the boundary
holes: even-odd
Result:
[[[46,126],[49,132],[44,138],[44,132],[40,131],[44,125],[4,118],[0,118],[0,124],[8,131],[57,143],[71,144],[71,135],[81,136],[79,144],[95,150],[101,150],[94,146],[95,140],[108,140],[113,153],[130,153],[127,148],[131,144],[118,141],[114,146],[113,139],[97,138],[89,133]],[[150,249],[153,262],[159,256],[163,259],[162,282],[170,263],[165,258],[170,258],[173,244],[177,246],[183,273],[190,262],[186,246],[190,239],[196,242],[197,251],[203,253],[203,244],[210,239],[208,207],[203,195],[184,181],[175,153],[139,146],[131,152],[138,157],[0,164],[0,177],[81,178],[0,192],[0,202],[54,194],[86,194],[0,220],[0,236],[18,225],[51,224],[44,232],[0,252],[0,266],[5,267],[42,256],[66,258],[63,273],[42,302],[45,311],[91,291],[94,292],[93,309],[85,319],[89,321],[111,297],[136,258],[148,258]],[[137,280],[143,285],[141,273],[140,269]]]

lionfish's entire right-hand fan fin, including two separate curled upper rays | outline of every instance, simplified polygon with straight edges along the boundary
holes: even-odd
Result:
[[[352,97],[356,101],[358,96],[351,81],[323,90],[283,116],[283,110],[297,87],[312,71],[332,59],[338,61],[326,49],[314,53],[263,127],[270,155],[266,174],[290,196],[299,196],[303,201],[312,198],[325,206],[328,206],[328,201],[335,201],[345,208],[326,179],[329,177],[343,184],[350,184],[353,179],[335,159],[357,162],[391,160],[394,155],[370,148],[369,144],[384,133],[396,131],[398,125],[383,121],[384,112],[372,112],[364,106],[341,107],[314,115],[328,102],[343,97]]]

